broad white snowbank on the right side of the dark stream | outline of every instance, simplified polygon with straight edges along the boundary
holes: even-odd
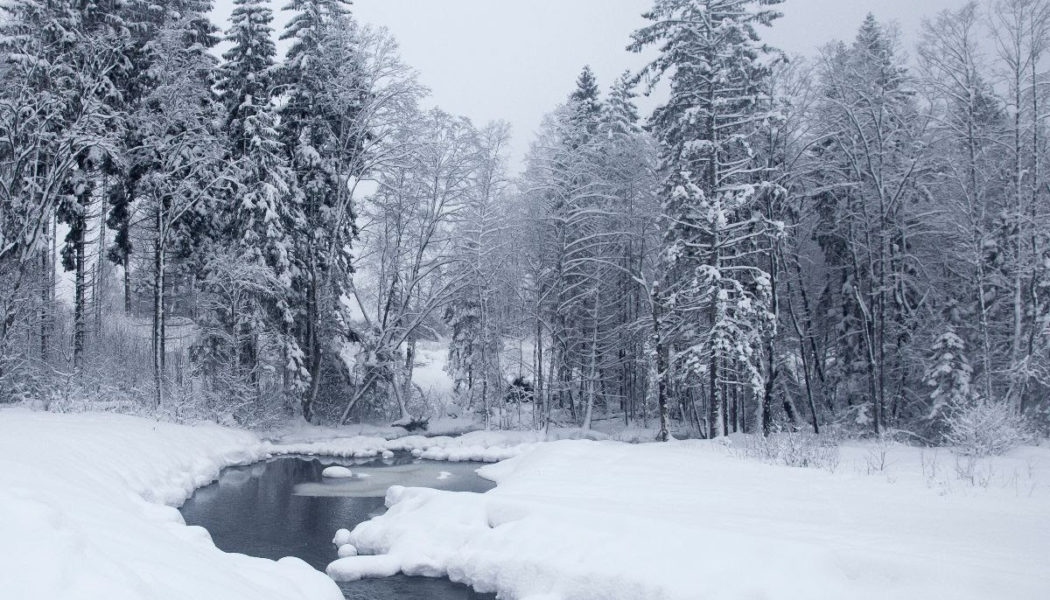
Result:
[[[1050,473],[1050,451],[1022,453]],[[447,575],[523,599],[1050,597],[1042,487],[945,494],[921,477],[774,467],[701,441],[537,444],[481,473],[498,488],[392,488],[388,512],[350,539],[377,556],[329,574]]]

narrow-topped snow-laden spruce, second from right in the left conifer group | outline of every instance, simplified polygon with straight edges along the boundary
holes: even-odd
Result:
[[[217,231],[223,251],[209,262],[205,286],[223,297],[236,295],[240,310],[228,310],[232,302],[217,303],[217,310],[205,316],[210,327],[203,330],[213,334],[202,340],[200,354],[206,372],[229,371],[232,384],[256,399],[264,386],[302,391],[296,363],[301,351],[288,327],[293,319],[288,231],[301,224],[302,215],[276,128],[272,19],[262,0],[237,0],[226,35],[232,46],[223,55],[217,89],[237,173]],[[275,373],[276,381],[260,380],[267,372]]]

